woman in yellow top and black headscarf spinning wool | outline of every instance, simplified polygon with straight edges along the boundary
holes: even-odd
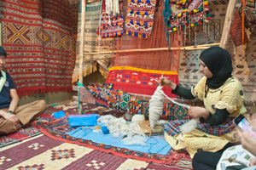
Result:
[[[236,77],[231,75],[233,68],[227,50],[219,47],[207,48],[200,55],[200,63],[200,71],[204,77],[191,89],[160,77],[160,85],[172,88],[172,94],[184,99],[199,98],[205,106],[189,108],[189,116],[200,121],[190,133],[182,133],[179,128],[189,120],[176,120],[164,125],[165,137],[174,150],[186,148],[191,157],[199,150],[219,152],[221,156],[230,143],[236,142],[232,119],[246,112],[243,89]],[[207,159],[212,165],[206,169],[215,169],[218,159],[216,162],[211,158]]]

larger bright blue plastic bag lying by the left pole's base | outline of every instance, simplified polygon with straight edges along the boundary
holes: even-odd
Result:
[[[70,115],[68,117],[68,124],[71,127],[95,126],[98,117],[97,114]]]

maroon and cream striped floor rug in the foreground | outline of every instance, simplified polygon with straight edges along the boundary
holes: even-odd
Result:
[[[180,160],[172,166],[148,163],[107,154],[84,145],[64,143],[44,135],[2,148],[0,155],[0,169],[192,169],[191,161],[187,160]]]

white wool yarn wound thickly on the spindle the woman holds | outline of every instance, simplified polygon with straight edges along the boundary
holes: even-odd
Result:
[[[149,100],[149,122],[153,130],[156,122],[160,120],[164,108],[164,94],[162,88],[162,86],[158,86]]]

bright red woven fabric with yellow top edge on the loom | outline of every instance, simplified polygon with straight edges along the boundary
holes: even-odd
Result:
[[[131,66],[114,66],[109,69],[107,83],[113,83],[113,89],[122,89],[126,93],[153,95],[158,80],[164,77],[178,83],[177,71],[146,70]],[[176,97],[171,88],[163,88],[166,95]]]

